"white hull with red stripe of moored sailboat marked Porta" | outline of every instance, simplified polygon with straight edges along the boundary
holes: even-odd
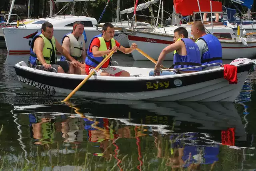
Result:
[[[128,35],[129,44],[136,43],[138,47],[146,52],[153,59],[158,59],[161,51],[168,45],[174,43],[173,36],[157,33],[147,33],[137,31],[135,35]],[[256,55],[256,41],[248,43],[245,47],[242,43],[228,42],[220,40],[222,45],[222,59],[237,59],[240,57],[252,58]],[[133,51],[134,60],[148,60],[138,51]],[[173,60],[173,53],[166,56],[165,60]]]

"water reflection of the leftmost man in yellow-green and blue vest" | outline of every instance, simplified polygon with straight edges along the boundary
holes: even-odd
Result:
[[[28,114],[30,122],[30,136],[34,139],[35,145],[44,145],[54,142],[54,123],[49,115],[42,114],[40,117],[35,114]],[[39,122],[39,120],[41,120]]]

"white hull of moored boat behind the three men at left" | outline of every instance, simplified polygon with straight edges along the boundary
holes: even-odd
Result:
[[[34,28],[4,28],[4,39],[6,42],[6,47],[10,55],[20,55],[20,54],[30,54],[30,43],[32,38],[40,29]],[[62,37],[72,31],[72,29],[60,29],[54,28],[54,37],[59,43],[61,43]],[[86,49],[88,49],[89,43],[95,35],[101,32],[97,29],[87,29],[86,37]],[[128,47],[128,36],[123,34],[121,31],[116,31],[115,37],[117,41],[120,42],[124,47]]]

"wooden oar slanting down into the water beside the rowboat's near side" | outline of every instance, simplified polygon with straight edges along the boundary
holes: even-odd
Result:
[[[115,51],[112,51],[110,54],[108,54],[108,56],[105,57],[103,61],[101,61],[101,63],[96,68],[94,68],[94,70],[92,70],[92,72],[89,75],[87,75],[87,77],[85,77],[85,79],[62,102],[68,101],[76,93],[76,91],[79,90],[82,87],[82,85],[84,85],[84,83],[88,79],[90,79],[90,77],[92,77],[94,72],[97,71],[113,55],[114,52]]]

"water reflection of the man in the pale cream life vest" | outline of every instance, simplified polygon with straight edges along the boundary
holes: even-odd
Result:
[[[80,143],[83,141],[84,124],[82,118],[68,118],[61,122],[62,138],[66,143]]]

